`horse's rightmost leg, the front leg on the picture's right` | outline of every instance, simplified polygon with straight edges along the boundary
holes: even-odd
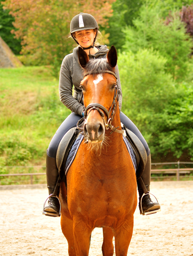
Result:
[[[115,254],[116,256],[126,256],[133,234],[133,215],[123,223],[122,226],[114,230]]]

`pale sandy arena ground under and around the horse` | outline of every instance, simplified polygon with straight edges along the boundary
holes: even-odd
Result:
[[[193,256],[193,181],[151,182],[162,212],[134,214],[127,255]],[[44,185],[0,186],[0,255],[68,255],[60,218],[42,215]],[[102,229],[92,233],[90,254],[102,255]]]

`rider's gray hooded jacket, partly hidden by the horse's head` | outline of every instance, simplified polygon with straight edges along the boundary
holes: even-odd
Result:
[[[80,46],[78,46],[80,47]],[[79,65],[78,61],[78,47],[73,50],[73,53],[66,55],[62,61],[60,69],[60,79],[59,79],[59,94],[60,100],[67,108],[72,112],[82,116],[84,111],[83,101],[79,103],[81,98],[82,90],[79,87],[83,79],[84,69]],[[106,45],[97,46],[99,51],[90,58],[106,58],[108,48]],[[115,67],[115,73],[117,76],[117,84],[120,89],[119,97],[119,110],[122,107],[122,90],[120,86],[120,78],[118,67]],[[74,85],[74,95],[73,95],[73,85]]]

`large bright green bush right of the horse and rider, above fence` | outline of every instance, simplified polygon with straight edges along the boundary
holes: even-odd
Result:
[[[152,49],[119,53],[122,111],[146,138],[152,158],[193,159],[193,84],[177,84],[166,62]]]

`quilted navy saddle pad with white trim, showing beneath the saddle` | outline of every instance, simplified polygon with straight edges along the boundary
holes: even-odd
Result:
[[[67,172],[68,172],[71,164],[73,163],[73,161],[74,161],[74,159],[76,157],[78,148],[81,145],[81,142],[83,141],[83,139],[84,139],[84,135],[82,135],[82,134],[79,135],[78,138],[75,140],[75,143],[74,143],[73,147],[70,149],[70,152],[69,152],[69,155],[67,157],[66,164],[65,164],[65,174],[66,175],[67,175]],[[131,156],[131,159],[132,159],[132,162],[133,162],[133,166],[134,166],[134,169],[135,169],[135,172],[136,172],[136,159],[135,159],[135,155],[133,153],[133,149],[132,149],[130,143],[128,142],[128,140],[125,139],[124,136],[123,136],[123,140],[124,140],[125,145],[127,147],[128,153]]]

